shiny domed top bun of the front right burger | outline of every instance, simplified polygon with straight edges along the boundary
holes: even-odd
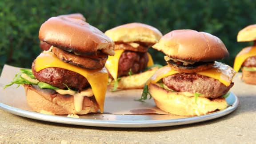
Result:
[[[221,60],[229,56],[227,48],[218,37],[190,29],[169,32],[152,48],[169,57],[191,62]]]

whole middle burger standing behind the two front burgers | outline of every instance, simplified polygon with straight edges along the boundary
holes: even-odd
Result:
[[[113,90],[143,88],[156,72],[148,48],[158,42],[162,34],[156,28],[141,23],[129,23],[105,32],[115,42],[115,56],[109,56],[106,68]]]

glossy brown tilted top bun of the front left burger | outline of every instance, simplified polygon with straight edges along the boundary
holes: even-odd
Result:
[[[80,55],[96,55],[99,51],[114,55],[114,42],[99,29],[79,19],[51,17],[41,25],[39,39]]]

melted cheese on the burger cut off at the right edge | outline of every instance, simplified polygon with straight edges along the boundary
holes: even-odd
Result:
[[[243,48],[236,56],[234,62],[234,69],[239,71],[244,61],[251,56],[256,56],[256,46]]]

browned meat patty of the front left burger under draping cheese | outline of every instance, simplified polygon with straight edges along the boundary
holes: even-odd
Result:
[[[36,72],[35,61],[32,63],[32,72],[39,81],[60,89],[67,88],[64,85],[66,84],[68,88],[78,90],[80,92],[82,89],[90,86],[88,80],[84,76],[67,69],[50,67]]]

